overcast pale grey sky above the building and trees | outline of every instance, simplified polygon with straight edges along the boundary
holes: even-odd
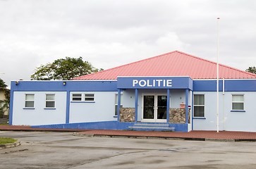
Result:
[[[0,0],[0,77],[30,80],[41,64],[79,57],[113,68],[170,51],[240,70],[256,65],[253,0]]]

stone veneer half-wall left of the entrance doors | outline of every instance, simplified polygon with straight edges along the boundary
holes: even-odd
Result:
[[[135,108],[120,108],[119,109],[120,122],[135,122]]]

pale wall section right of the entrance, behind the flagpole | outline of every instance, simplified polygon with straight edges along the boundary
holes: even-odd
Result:
[[[194,119],[193,130],[217,130],[216,92],[194,92],[194,94],[205,94],[206,119]],[[232,94],[244,94],[245,112],[231,112]],[[219,92],[219,130],[256,132],[255,98],[256,92],[225,92],[224,96]]]

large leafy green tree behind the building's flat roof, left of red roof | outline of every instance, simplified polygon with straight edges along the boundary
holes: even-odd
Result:
[[[60,58],[53,63],[40,65],[31,80],[71,80],[75,77],[88,75],[103,70],[92,67],[92,64],[79,58]]]

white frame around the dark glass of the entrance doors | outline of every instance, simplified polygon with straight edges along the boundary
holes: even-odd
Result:
[[[171,94],[170,94],[171,95]],[[144,114],[144,96],[154,96],[154,119],[144,119],[143,118],[143,114]],[[141,122],[151,122],[151,123],[166,123],[166,118],[167,118],[167,115],[166,115],[166,118],[165,119],[157,119],[157,96],[167,96],[166,93],[142,93],[142,101],[141,101]],[[170,97],[171,98],[171,97]],[[171,102],[171,99],[170,99],[170,102]],[[168,104],[168,103],[166,103]],[[167,113],[167,111],[166,111]]]

